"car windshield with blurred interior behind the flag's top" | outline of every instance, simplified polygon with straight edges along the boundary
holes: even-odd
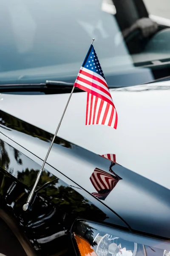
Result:
[[[158,17],[157,22],[145,4],[143,0],[0,1],[0,84],[74,82],[92,38],[110,87],[168,76],[169,20]]]

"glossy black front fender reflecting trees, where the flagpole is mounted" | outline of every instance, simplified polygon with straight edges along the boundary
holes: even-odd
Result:
[[[48,138],[40,138],[49,143]],[[57,142],[60,147],[71,147],[69,143],[62,145],[63,140]],[[128,227],[113,211],[49,165],[45,166],[31,209],[24,212],[23,204],[42,160],[28,151],[27,157],[22,147],[19,151],[11,144],[18,146],[0,134],[0,218],[16,234],[27,255],[75,255],[70,229],[78,217]]]

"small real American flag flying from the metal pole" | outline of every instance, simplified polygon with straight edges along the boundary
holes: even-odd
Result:
[[[108,125],[117,128],[117,112],[105,76],[91,44],[75,87],[87,92],[86,125]]]

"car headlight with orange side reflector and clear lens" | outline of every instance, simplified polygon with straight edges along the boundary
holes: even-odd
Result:
[[[79,256],[170,256],[170,242],[114,229],[91,221],[72,228]]]

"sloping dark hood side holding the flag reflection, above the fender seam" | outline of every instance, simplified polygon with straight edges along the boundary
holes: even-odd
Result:
[[[44,159],[52,134],[3,111],[0,116],[2,134]],[[116,212],[131,229],[170,238],[169,189],[59,137],[47,163]]]

